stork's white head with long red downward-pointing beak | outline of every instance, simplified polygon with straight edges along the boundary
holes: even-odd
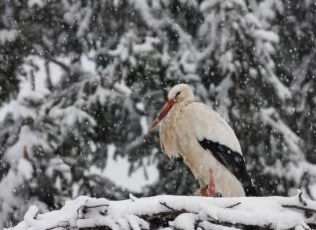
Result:
[[[154,120],[150,127],[153,130],[159,123],[164,119],[165,116],[170,112],[173,106],[177,103],[191,102],[194,101],[194,95],[192,89],[187,84],[175,85],[168,93],[168,101],[160,110],[158,116]]]

